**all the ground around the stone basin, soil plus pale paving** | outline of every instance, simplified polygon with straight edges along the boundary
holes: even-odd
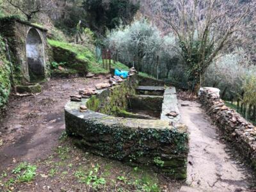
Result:
[[[186,182],[76,148],[65,135],[63,107],[79,88],[104,81],[104,76],[55,79],[42,84],[38,95],[10,98],[0,122],[0,191],[253,191],[250,172],[197,102],[180,100],[190,137]],[[12,171],[24,162],[36,166],[29,182],[20,179],[24,171]]]

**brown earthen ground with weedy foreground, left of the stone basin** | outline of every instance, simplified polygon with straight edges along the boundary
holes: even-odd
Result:
[[[10,98],[0,124],[0,191],[178,191],[182,182],[93,156],[63,134],[70,95],[105,81],[104,76],[56,79],[42,84],[38,95]],[[36,166],[31,182],[20,181],[23,171],[12,173],[24,162]]]

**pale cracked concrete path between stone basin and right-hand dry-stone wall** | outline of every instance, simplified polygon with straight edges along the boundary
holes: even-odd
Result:
[[[189,128],[187,184],[181,191],[245,191],[250,174],[234,160],[220,140],[218,128],[211,124],[198,102],[179,100],[182,123]]]

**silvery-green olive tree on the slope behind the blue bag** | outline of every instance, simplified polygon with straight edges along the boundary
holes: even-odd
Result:
[[[111,51],[118,54],[118,58],[128,65],[134,66],[140,71],[152,74],[154,64],[163,38],[159,30],[148,23],[146,19],[135,20],[131,25],[120,27],[111,31],[106,38],[106,44]],[[143,63],[152,64],[143,65]]]

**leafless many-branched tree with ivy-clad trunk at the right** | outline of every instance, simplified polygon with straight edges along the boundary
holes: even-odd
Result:
[[[189,90],[193,93],[198,92],[212,60],[244,42],[256,12],[256,1],[154,0],[148,4],[163,28],[172,29],[177,36],[180,54],[190,68]]]

